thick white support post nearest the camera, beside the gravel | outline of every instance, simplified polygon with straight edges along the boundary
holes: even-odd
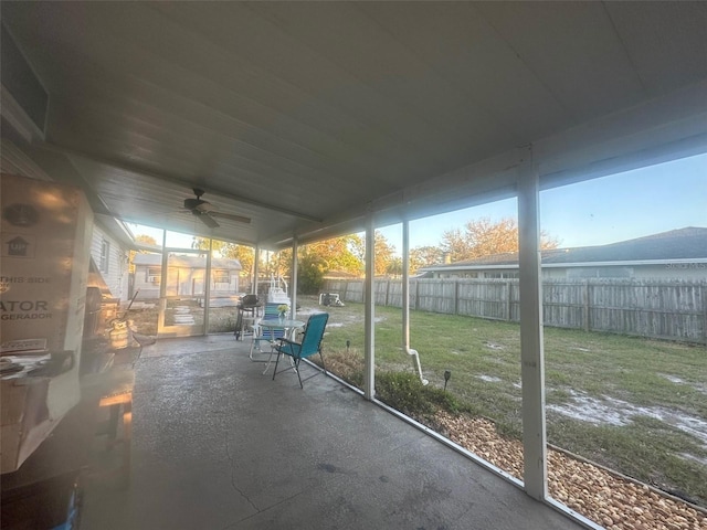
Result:
[[[545,500],[547,443],[538,182],[529,152],[518,179],[524,483],[530,497]]]

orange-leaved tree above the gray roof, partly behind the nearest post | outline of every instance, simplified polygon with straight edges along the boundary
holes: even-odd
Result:
[[[557,248],[559,241],[540,232],[542,248]],[[464,232],[458,229],[449,230],[442,234],[442,251],[449,253],[452,262],[475,259],[492,254],[518,252],[518,222],[504,218],[492,222],[488,218],[469,221],[464,225]]]

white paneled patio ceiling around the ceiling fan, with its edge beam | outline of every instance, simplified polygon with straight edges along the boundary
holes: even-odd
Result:
[[[3,2],[98,213],[306,242],[707,150],[707,2]],[[4,94],[4,93],[3,93]],[[530,149],[531,146],[531,149]],[[184,213],[192,187],[218,210]]]

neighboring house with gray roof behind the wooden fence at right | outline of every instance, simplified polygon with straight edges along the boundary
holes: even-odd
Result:
[[[601,246],[541,251],[549,279],[707,280],[707,229],[688,226]],[[423,267],[428,278],[517,278],[518,253]]]

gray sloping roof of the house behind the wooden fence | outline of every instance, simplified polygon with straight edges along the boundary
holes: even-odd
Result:
[[[707,259],[707,229],[688,226],[609,245],[552,248],[541,252],[542,264],[648,262],[674,259]],[[518,253],[493,254],[422,271],[454,269],[471,266],[518,265]]]

